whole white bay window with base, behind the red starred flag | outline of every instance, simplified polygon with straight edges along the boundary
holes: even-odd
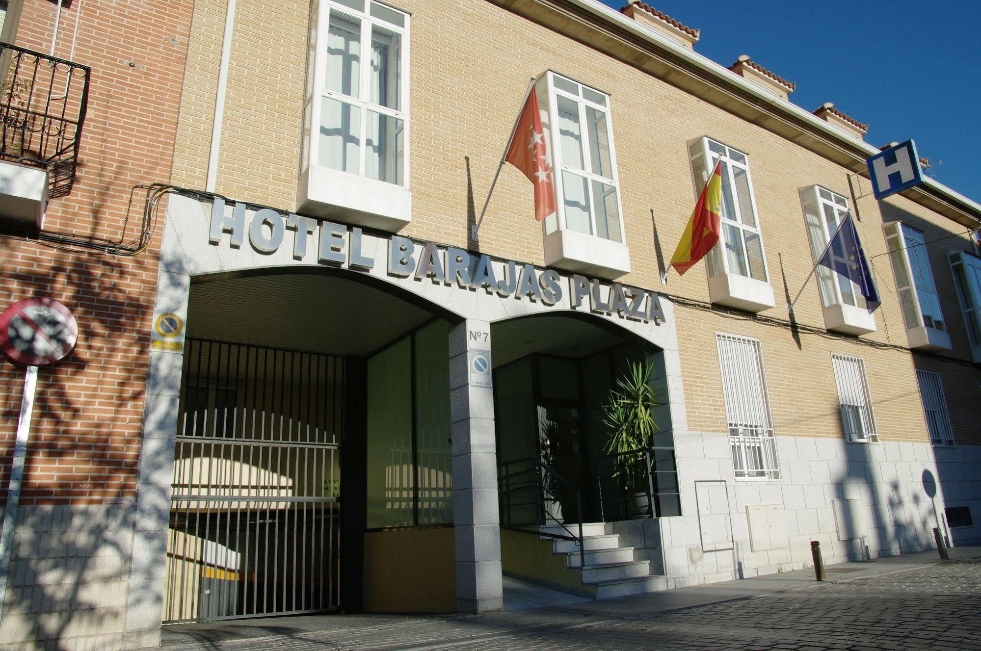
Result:
[[[628,274],[609,96],[551,71],[536,92],[556,193],[556,213],[543,224],[545,264],[605,278]]]

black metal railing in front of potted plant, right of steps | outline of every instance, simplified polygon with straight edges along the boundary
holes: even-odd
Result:
[[[618,466],[623,468],[629,465],[632,463],[631,460],[633,463],[643,464],[642,485],[628,488],[617,481],[617,488],[619,489],[617,494],[614,497],[608,495],[604,497],[603,480],[616,480],[615,469]],[[607,464],[608,468],[608,472],[605,473],[603,472],[604,463]],[[599,497],[599,517],[603,522],[639,516],[661,518],[681,515],[681,493],[678,487],[678,467],[675,462],[674,448],[652,446],[598,457],[596,459],[596,484]],[[631,514],[631,502],[640,492],[645,493],[646,513]],[[606,503],[611,501],[618,506],[618,514],[606,508]],[[609,520],[607,520],[608,516],[610,517]]]

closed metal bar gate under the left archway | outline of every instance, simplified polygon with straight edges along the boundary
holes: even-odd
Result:
[[[164,623],[335,609],[340,357],[188,338]]]

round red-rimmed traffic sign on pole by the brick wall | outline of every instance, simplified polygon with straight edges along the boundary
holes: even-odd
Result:
[[[19,364],[54,364],[72,352],[77,340],[75,317],[51,298],[26,298],[0,315],[0,349]]]

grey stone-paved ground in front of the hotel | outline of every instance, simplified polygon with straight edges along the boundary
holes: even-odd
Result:
[[[981,651],[981,550],[957,550],[944,563],[929,555],[903,559],[829,568],[825,583],[807,572],[788,573],[480,616],[324,616],[172,626],[165,628],[164,648]]]

